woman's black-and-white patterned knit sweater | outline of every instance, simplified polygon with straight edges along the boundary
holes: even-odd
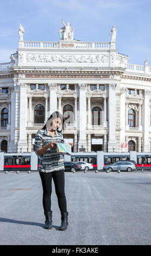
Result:
[[[38,155],[37,150],[50,142],[64,142],[62,132],[55,131],[55,136],[51,136],[47,129],[38,130],[35,136],[35,153],[39,157],[38,170],[44,173],[54,172],[55,170],[64,170],[64,156],[57,153],[56,145],[47,149],[44,154]]]

